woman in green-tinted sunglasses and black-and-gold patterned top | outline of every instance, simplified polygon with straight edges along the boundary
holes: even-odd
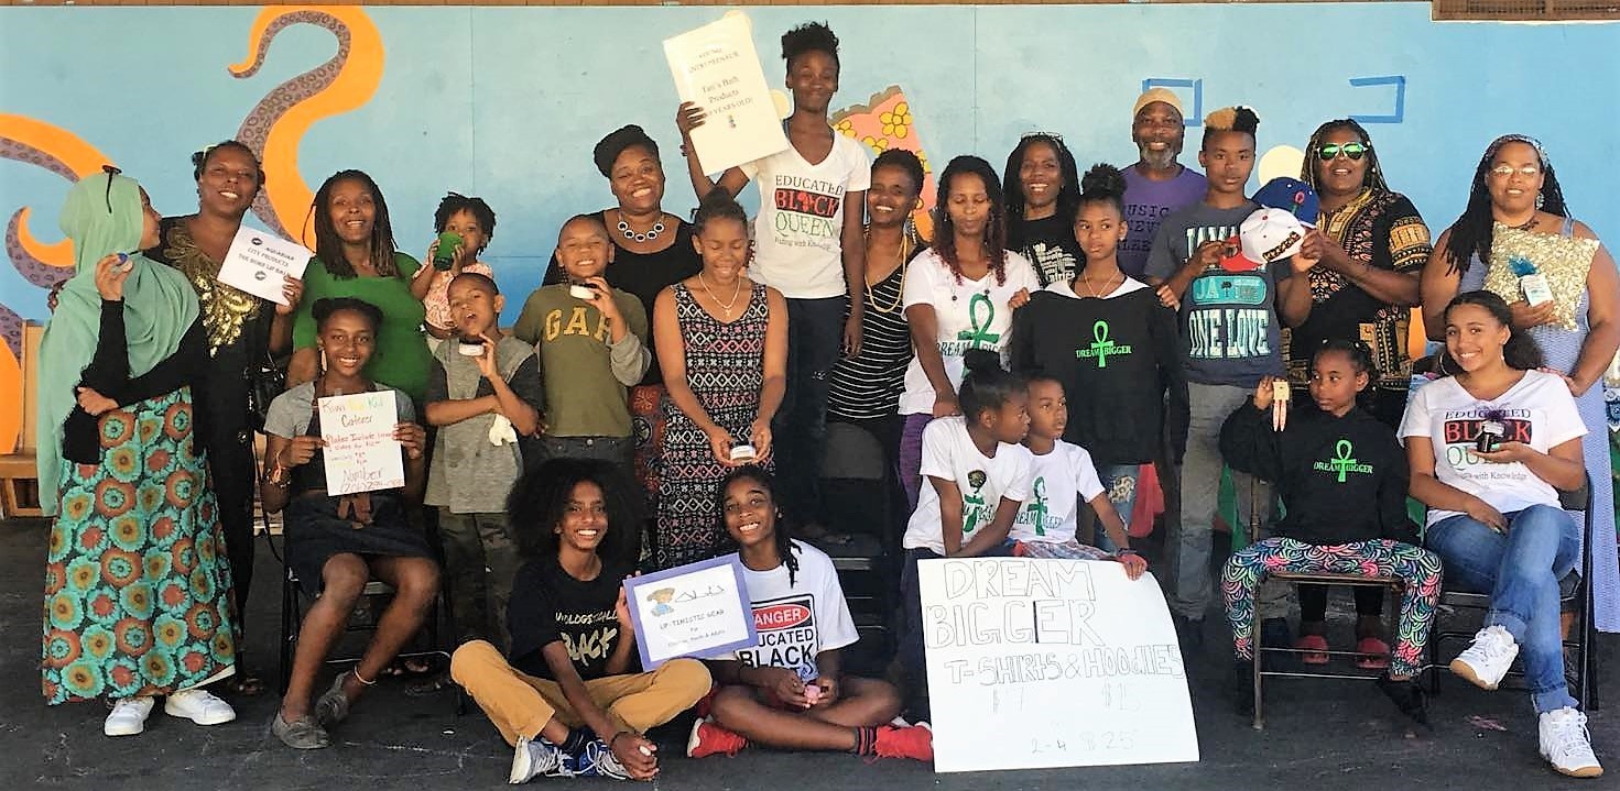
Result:
[[[1288,379],[1304,395],[1322,341],[1362,340],[1379,370],[1367,406],[1385,425],[1400,425],[1411,380],[1406,328],[1429,260],[1429,226],[1383,183],[1372,139],[1349,118],[1317,128],[1299,178],[1320,201],[1320,215],[1301,220],[1315,222],[1306,244],[1322,262],[1307,273],[1311,317],[1291,333]]]

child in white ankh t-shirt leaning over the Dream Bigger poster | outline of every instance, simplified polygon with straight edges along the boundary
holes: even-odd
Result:
[[[1126,576],[1139,579],[1147,571],[1147,560],[1131,548],[1124,521],[1105,497],[1092,455],[1079,445],[1063,442],[1069,422],[1069,401],[1063,396],[1063,383],[1047,375],[1029,380],[1029,500],[1013,522],[1013,553],[1029,558],[1108,560],[1124,563]],[[1108,532],[1108,540],[1119,547],[1113,555],[1097,547],[1081,544],[1074,532],[1079,522],[1079,503],[1085,500]]]

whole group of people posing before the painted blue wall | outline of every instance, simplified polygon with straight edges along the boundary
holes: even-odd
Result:
[[[703,112],[679,108],[690,222],[664,210],[642,128],[603,137],[614,205],[562,225],[510,330],[480,260],[496,230],[483,199],[446,196],[420,262],[395,247],[371,176],[339,171],[311,207],[314,257],[272,302],[217,280],[264,183],[248,146],[193,159],[185,217],[160,217],[115,168],[83,178],[62,212],[76,273],[37,383],[47,702],[107,699],[109,736],[141,733],[159,697],[198,725],[233,720],[211,689],[261,686],[240,655],[258,495],[314,597],[272,720],[292,747],[330,744],[442,592],[449,678],[514,746],[514,783],[648,780],[646,730],[693,707],[690,755],[758,742],[927,760],[919,561],[1111,560],[1137,579],[1129,522],[1157,471],[1162,581],[1197,652],[1230,467],[1256,529],[1220,579],[1238,678],[1256,642],[1328,660],[1327,592],[1299,587],[1296,639],[1267,574],[1396,577],[1393,650],[1382,594],[1358,589],[1356,663],[1426,721],[1416,678],[1443,577],[1492,600],[1452,671],[1495,689],[1521,657],[1542,755],[1602,772],[1565,687],[1558,584],[1591,552],[1594,618],[1620,629],[1596,387],[1620,346],[1620,281],[1536,141],[1492,142],[1468,209],[1430,243],[1358,123],[1322,125],[1299,180],[1247,196],[1256,113],[1204,120],[1200,175],[1179,163],[1179,100],[1150,89],[1132,110],[1139,162],[1081,175],[1056,134],[1021,139],[1001,173],[951,159],[923,238],[923,163],[868,160],[828,123],[833,31],[789,31],[782,58],[779,154],[711,178],[690,142]],[[735,201],[750,181],[752,222]],[[1528,275],[1550,298],[1531,304]],[[1445,346],[1416,375],[1413,307]],[[321,400],[382,390],[403,487],[329,495]],[[899,684],[839,662],[857,634],[818,548],[847,540],[818,490],[829,421],[878,442],[909,503]],[[1581,547],[1558,492],[1588,484]],[[799,650],[638,668],[622,579],[732,552],[757,608],[808,602]],[[373,579],[394,595],[322,691]]]

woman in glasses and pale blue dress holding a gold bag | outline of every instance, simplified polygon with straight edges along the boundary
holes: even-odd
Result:
[[[1486,149],[1468,209],[1440,235],[1424,267],[1429,336],[1445,336],[1442,312],[1453,296],[1481,288],[1508,302],[1513,328],[1528,332],[1547,369],[1563,375],[1575,396],[1586,425],[1581,448],[1592,482],[1592,535],[1599,539],[1592,542],[1589,581],[1594,623],[1605,632],[1620,631],[1614,477],[1599,383],[1620,346],[1620,277],[1592,230],[1570,217],[1541,144],[1521,134],[1497,137]]]

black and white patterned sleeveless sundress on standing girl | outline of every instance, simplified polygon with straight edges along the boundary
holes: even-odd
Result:
[[[739,442],[760,412],[765,382],[765,328],[771,307],[753,283],[748,304],[731,324],[703,311],[685,283],[676,283],[676,319],[685,345],[687,387],[714,424]],[[705,435],[672,400],[664,400],[663,463],[658,477],[658,552],[661,569],[721,555],[729,539],[714,493],[726,467],[714,461]]]

